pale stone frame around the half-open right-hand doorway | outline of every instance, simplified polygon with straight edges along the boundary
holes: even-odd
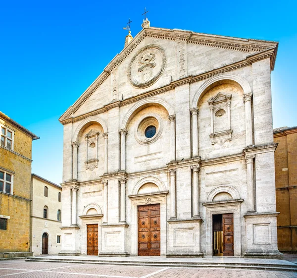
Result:
[[[206,207],[206,256],[212,257],[212,216],[233,213],[234,257],[241,257],[241,202],[243,199],[226,202],[204,203]]]

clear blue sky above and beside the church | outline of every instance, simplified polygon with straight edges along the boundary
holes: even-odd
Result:
[[[274,127],[295,126],[296,1],[0,1],[0,111],[41,137],[32,172],[62,182],[59,116],[141,31],[153,27],[280,42],[272,72]]]

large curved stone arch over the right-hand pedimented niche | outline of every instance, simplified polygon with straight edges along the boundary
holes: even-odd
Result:
[[[209,79],[207,79],[198,89],[198,91],[195,93],[191,107],[192,108],[196,108],[198,105],[199,100],[201,99],[201,97],[203,96],[203,93],[205,92],[205,90],[213,83],[217,82],[217,81],[221,81],[221,80],[232,80],[235,81],[236,83],[238,83],[241,88],[243,89],[245,94],[251,93],[251,88],[249,83],[247,82],[247,80],[245,78],[243,78],[242,76],[235,74],[235,73],[222,73],[222,74],[218,74],[215,75]]]

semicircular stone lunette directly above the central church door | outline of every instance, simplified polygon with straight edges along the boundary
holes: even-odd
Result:
[[[164,183],[155,177],[145,177],[134,186],[132,195],[149,194],[159,191],[166,191]]]

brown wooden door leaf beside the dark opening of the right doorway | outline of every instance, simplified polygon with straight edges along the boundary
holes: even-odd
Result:
[[[233,214],[223,214],[223,256],[234,256]]]

